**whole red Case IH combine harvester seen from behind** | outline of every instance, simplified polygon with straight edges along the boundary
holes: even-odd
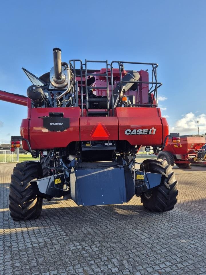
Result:
[[[112,61],[61,61],[53,49],[54,67],[37,78],[28,97],[0,92],[0,99],[28,106],[20,146],[37,161],[21,162],[11,176],[9,209],[14,220],[37,218],[42,200],[72,198],[77,205],[108,205],[140,196],[150,211],[169,211],[177,202],[177,181],[166,161],[149,159],[135,168],[141,146],[163,150],[167,120],[157,108],[157,64]],[[98,70],[89,68],[103,65]],[[124,66],[148,69],[125,70]],[[79,68],[77,68],[79,66]],[[116,67],[116,68],[115,68]]]

